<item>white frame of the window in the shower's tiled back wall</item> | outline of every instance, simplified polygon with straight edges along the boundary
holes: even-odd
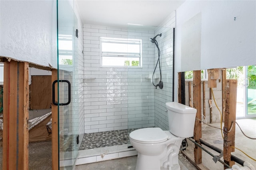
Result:
[[[140,44],[140,53],[122,53],[122,52],[102,52],[102,42],[125,43],[125,44]],[[125,65],[102,65],[102,57],[138,57],[138,66]],[[127,39],[127,38],[106,38],[100,37],[100,67],[119,67],[119,68],[142,68],[142,40],[141,39]]]

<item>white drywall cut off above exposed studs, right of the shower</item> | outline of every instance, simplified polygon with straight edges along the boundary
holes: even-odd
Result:
[[[256,64],[256,1],[186,1],[176,12],[178,72]],[[182,28],[199,14],[201,57],[194,57],[186,53],[191,50],[189,44],[182,48],[184,34],[194,34],[194,30]],[[193,47],[194,42],[189,42]],[[186,59],[191,62],[182,63]]]

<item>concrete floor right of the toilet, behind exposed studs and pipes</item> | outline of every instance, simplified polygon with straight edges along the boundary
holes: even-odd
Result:
[[[236,122],[240,125],[242,130],[247,136],[250,136],[252,138],[256,138],[256,118],[252,119],[237,119]],[[214,127],[220,128],[220,123],[213,123],[210,124]],[[222,127],[224,126],[224,123],[222,123]],[[223,129],[223,128],[222,128]],[[235,147],[239,148],[240,150],[243,150],[251,156],[252,158],[256,159],[256,141],[246,138],[239,127],[236,125],[236,134],[235,134]],[[223,150],[223,138],[221,135],[221,131],[216,128],[212,128],[206,125],[202,125],[202,140],[205,140],[206,142],[220,148]],[[214,150],[208,148],[207,146],[202,145],[204,148],[206,148],[208,151],[212,152],[214,155],[219,155],[218,152],[215,152]],[[192,157],[194,156],[194,143],[190,142],[188,140],[188,148],[186,148],[186,153],[192,154]],[[248,156],[240,152],[238,149],[235,149],[235,152],[231,153],[232,155],[244,160],[250,162],[255,168],[256,168],[256,161],[250,159]],[[202,151],[202,164],[206,166],[206,168],[210,170],[220,170],[223,169],[223,165],[220,162],[215,163],[212,160],[212,156],[210,156],[208,153]],[[223,160],[223,157],[221,158]],[[238,166],[241,166],[237,164]]]

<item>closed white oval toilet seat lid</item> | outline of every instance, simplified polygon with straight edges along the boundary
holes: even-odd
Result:
[[[158,127],[141,128],[129,134],[130,138],[139,143],[160,143],[168,139],[168,135]]]

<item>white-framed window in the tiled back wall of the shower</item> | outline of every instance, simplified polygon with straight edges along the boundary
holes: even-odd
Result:
[[[103,67],[142,67],[142,40],[100,38]]]

